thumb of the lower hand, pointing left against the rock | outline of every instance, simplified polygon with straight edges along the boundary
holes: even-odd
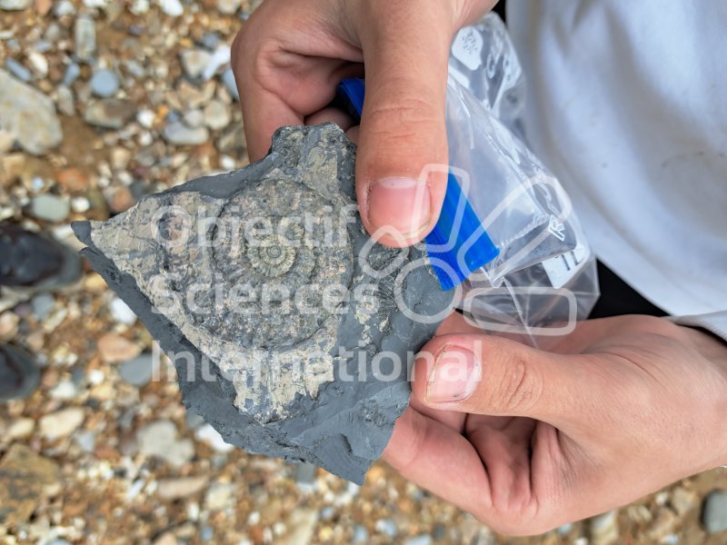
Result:
[[[602,390],[587,356],[482,334],[435,337],[417,355],[413,396],[447,411],[522,416],[569,427]],[[583,392],[588,393],[584,399]]]

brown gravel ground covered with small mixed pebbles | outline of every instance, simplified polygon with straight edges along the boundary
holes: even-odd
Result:
[[[0,0],[0,220],[77,247],[72,220],[244,165],[229,45],[254,4]],[[0,342],[44,366],[0,406],[2,543],[727,542],[727,496],[702,507],[727,471],[513,540],[384,464],[357,487],[231,450],[164,364],[152,380],[148,332],[87,268],[62,292],[5,290]]]

